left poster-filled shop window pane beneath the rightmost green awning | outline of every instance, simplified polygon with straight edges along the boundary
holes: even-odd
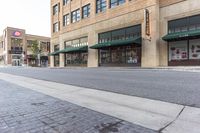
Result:
[[[187,60],[187,41],[176,41],[169,43],[169,61]]]

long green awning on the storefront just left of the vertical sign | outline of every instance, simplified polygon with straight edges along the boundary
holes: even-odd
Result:
[[[92,49],[101,49],[105,47],[111,47],[111,46],[122,46],[122,45],[128,45],[128,44],[141,44],[142,38],[141,37],[135,37],[131,39],[126,39],[126,40],[116,40],[112,42],[105,42],[105,43],[98,43],[90,48]]]

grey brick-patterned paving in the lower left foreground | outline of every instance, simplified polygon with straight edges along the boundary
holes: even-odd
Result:
[[[0,80],[0,133],[155,133]]]

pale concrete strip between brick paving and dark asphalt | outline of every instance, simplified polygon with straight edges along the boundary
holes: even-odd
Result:
[[[0,73],[0,79],[149,129],[158,131],[166,127],[164,133],[176,132],[186,122],[189,124],[185,126],[186,129],[180,129],[181,133],[184,133],[182,130],[190,133],[200,131],[200,127],[196,126],[200,121],[200,116],[196,117],[200,110],[196,108],[185,107],[179,119],[177,116],[184,108],[183,105],[5,73]],[[194,112],[192,118],[195,121],[189,119],[190,112]],[[195,129],[192,126],[196,126]]]

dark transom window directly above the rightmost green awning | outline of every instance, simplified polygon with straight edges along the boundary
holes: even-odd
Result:
[[[185,32],[200,29],[200,15],[169,21],[168,33]]]

